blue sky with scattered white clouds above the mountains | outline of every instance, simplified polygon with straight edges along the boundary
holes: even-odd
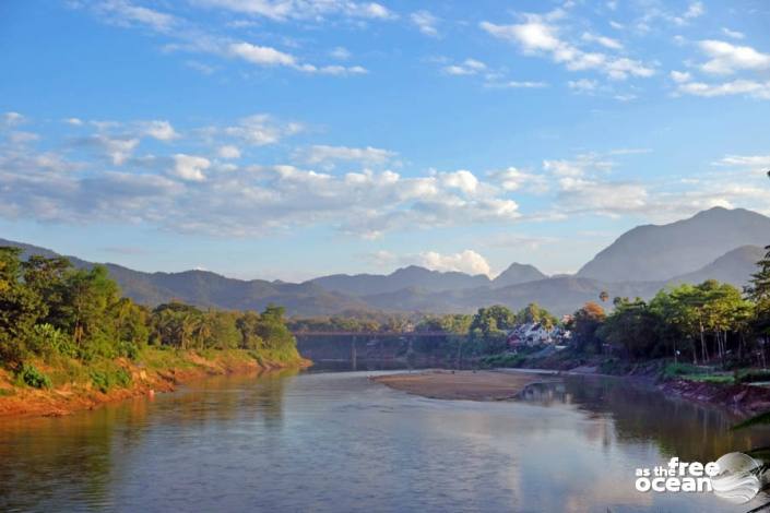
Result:
[[[770,2],[0,3],[0,237],[301,281],[770,214]]]

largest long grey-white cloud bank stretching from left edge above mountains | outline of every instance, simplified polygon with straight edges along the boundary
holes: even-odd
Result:
[[[204,140],[194,154],[132,156],[137,140],[105,133],[76,142],[98,147],[114,165],[121,165],[120,172],[105,170],[99,160],[72,162],[67,153],[37,152],[7,133],[5,142],[0,139],[4,145],[0,216],[23,213],[25,218],[60,223],[141,222],[179,232],[233,237],[321,225],[364,238],[396,229],[511,223],[521,216],[507,191],[469,170],[410,177],[391,170],[330,175],[288,165],[218,163],[201,152],[211,147],[220,158],[234,157],[234,148],[223,150],[227,144],[217,141],[235,138],[266,144],[280,136],[265,131],[265,124],[273,123],[282,128],[279,132],[286,128],[264,116],[216,128],[206,133],[211,141]],[[108,126],[115,128],[99,123],[100,130]],[[352,155],[351,148],[332,148],[333,158],[391,156],[367,151],[374,148]]]

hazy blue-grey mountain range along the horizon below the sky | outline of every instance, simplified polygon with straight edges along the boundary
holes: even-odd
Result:
[[[602,290],[611,297],[649,298],[676,283],[708,278],[745,285],[770,243],[770,218],[743,208],[721,207],[668,225],[645,225],[621,235],[574,276],[548,277],[535,266],[513,263],[496,278],[419,266],[388,275],[336,274],[301,284],[242,281],[206,271],[143,273],[105,264],[123,294],[156,306],[171,299],[203,308],[261,310],[285,306],[289,314],[328,315],[352,310],[467,312],[493,303],[521,308],[535,301],[569,313]],[[0,239],[25,254],[50,250]],[[74,265],[90,262],[71,258]]]

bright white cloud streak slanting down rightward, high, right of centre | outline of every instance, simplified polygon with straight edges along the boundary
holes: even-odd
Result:
[[[523,14],[524,23],[500,25],[484,21],[479,26],[494,37],[516,43],[525,55],[547,56],[570,71],[596,70],[614,80],[625,80],[628,76],[648,77],[655,73],[652,67],[641,61],[584,51],[576,44],[562,39],[555,22],[564,15],[564,11],[559,10],[547,14]],[[599,41],[597,37],[590,34],[588,37]],[[617,43],[611,38],[603,38],[602,41],[605,44],[603,46]]]

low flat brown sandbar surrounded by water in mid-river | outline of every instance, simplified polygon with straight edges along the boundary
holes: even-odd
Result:
[[[379,375],[371,380],[423,397],[465,401],[512,399],[528,385],[555,381],[536,373],[448,370]]]

